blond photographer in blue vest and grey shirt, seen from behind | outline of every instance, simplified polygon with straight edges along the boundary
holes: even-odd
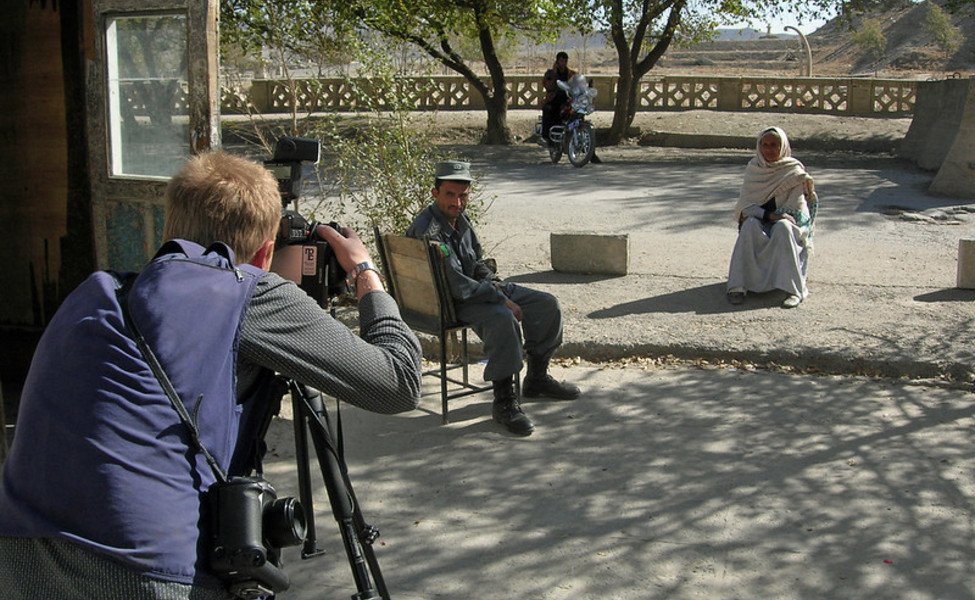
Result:
[[[259,454],[275,371],[375,412],[417,405],[419,344],[353,231],[318,234],[354,280],[361,338],[266,271],[281,197],[262,165],[194,157],[166,201],[171,241],[131,288],[120,296],[129,278],[93,274],[37,347],[0,487],[3,597],[228,597],[207,570],[201,495],[215,476],[128,322],[229,475]]]

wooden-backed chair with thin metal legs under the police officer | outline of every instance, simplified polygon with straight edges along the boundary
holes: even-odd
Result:
[[[396,299],[403,320],[415,331],[435,336],[439,342],[440,364],[423,374],[440,379],[441,414],[446,425],[449,400],[485,392],[492,386],[479,386],[470,381],[468,326],[458,322],[454,313],[444,256],[439,245],[429,240],[383,234],[378,227],[375,233],[386,286]],[[460,357],[453,361],[448,356],[447,342],[457,332],[460,333]],[[457,369],[461,370],[459,379],[450,376]]]

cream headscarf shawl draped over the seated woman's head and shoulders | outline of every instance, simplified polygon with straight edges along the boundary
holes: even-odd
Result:
[[[773,162],[762,156],[762,138],[768,134],[777,136],[782,142],[779,156]],[[735,205],[735,222],[741,217],[743,208],[752,204],[762,206],[771,198],[775,198],[776,209],[799,211],[808,216],[809,208],[803,189],[807,179],[811,177],[806,173],[806,168],[792,158],[792,146],[785,132],[778,127],[763,129],[755,142],[755,158],[748,161],[745,167],[745,180]]]

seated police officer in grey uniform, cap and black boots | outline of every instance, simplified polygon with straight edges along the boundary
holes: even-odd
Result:
[[[471,181],[469,163],[437,163],[434,202],[406,235],[447,245],[447,279],[457,318],[484,342],[484,379],[494,387],[494,420],[512,433],[531,435],[535,426],[522,410],[514,385],[523,353],[528,357],[525,397],[573,400],[580,393],[578,387],[548,374],[549,360],[562,344],[562,309],[551,294],[502,281],[484,264],[481,244],[464,213]]]

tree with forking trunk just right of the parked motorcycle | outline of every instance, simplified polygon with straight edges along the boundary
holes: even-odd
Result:
[[[636,116],[640,80],[672,44],[712,39],[721,24],[774,17],[853,14],[889,0],[575,0],[566,11],[580,31],[603,32],[619,57],[613,124],[604,143],[618,144]]]

